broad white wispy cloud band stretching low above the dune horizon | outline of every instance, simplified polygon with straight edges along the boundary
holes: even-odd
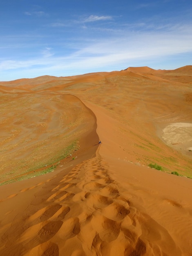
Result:
[[[89,44],[82,38],[77,38],[78,49],[69,48],[70,53],[65,55],[57,56],[51,53],[54,52],[54,46],[51,46],[45,47],[40,56],[28,60],[2,60],[0,73],[3,75],[11,70],[11,74],[17,74],[19,70],[27,70],[27,74],[33,77],[43,74],[67,76],[94,72],[98,69],[108,71],[117,66],[123,69],[136,61],[165,59],[175,54],[192,56],[191,28],[192,25],[175,25],[167,31],[137,33],[124,30],[118,37],[114,36],[111,40],[92,39]],[[23,76],[26,77],[20,74],[20,77]]]

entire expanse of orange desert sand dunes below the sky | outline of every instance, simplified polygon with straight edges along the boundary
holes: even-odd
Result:
[[[0,82],[0,256],[191,256],[191,74]]]

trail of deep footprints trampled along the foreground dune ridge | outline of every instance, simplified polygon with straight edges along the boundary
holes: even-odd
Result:
[[[168,255],[167,244],[180,255],[170,234],[121,195],[109,173],[97,152],[43,184],[4,232],[1,255],[156,256]]]

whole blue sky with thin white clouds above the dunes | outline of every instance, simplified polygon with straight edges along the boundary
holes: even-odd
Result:
[[[0,81],[192,65],[192,0],[1,0]]]

